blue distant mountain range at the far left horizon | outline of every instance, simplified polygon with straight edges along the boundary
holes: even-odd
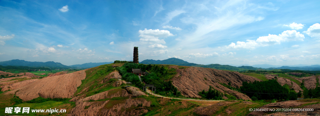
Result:
[[[0,62],[0,65],[2,66],[29,66],[29,67],[50,67],[50,68],[70,68],[67,65],[62,65],[59,62],[29,62],[25,60],[9,60],[9,61],[3,61]]]

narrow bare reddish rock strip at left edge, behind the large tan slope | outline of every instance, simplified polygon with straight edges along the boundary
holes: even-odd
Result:
[[[20,87],[23,87],[25,85],[28,85],[34,81],[37,81],[39,79],[29,79],[29,80],[24,80],[24,81],[20,81],[20,82],[17,82],[17,83],[11,83],[11,84],[7,84],[7,85],[2,85],[0,86],[1,91],[7,91],[7,90],[14,90],[14,89],[18,89]],[[18,80],[17,80],[18,81]]]

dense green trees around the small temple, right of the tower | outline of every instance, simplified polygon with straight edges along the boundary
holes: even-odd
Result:
[[[120,72],[122,78],[127,82],[142,88],[145,84],[140,82],[137,75],[131,73],[133,69],[141,69],[142,72],[149,72],[148,75],[141,76],[141,81],[156,86],[156,93],[166,96],[180,96],[181,93],[178,89],[172,85],[172,81],[168,81],[171,75],[176,74],[175,69],[167,69],[164,66],[158,65],[144,65],[125,63],[121,67],[117,67],[116,70]]]

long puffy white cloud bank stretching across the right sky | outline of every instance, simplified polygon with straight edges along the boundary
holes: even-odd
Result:
[[[255,49],[260,46],[269,46],[274,44],[280,44],[281,42],[286,41],[303,41],[304,35],[300,34],[295,30],[283,31],[279,35],[271,35],[259,37],[257,40],[247,39],[247,42],[238,41],[236,44],[231,43],[227,48],[246,48],[246,49]]]

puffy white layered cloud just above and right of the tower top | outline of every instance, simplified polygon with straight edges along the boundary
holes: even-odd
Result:
[[[165,44],[165,41],[163,39],[159,38],[166,38],[169,36],[174,36],[170,31],[168,30],[152,30],[149,29],[147,30],[146,28],[144,30],[139,30],[139,37],[140,37],[140,42],[146,44],[146,43],[161,43]]]

